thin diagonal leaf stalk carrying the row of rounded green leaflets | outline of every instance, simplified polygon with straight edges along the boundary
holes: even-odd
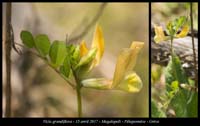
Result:
[[[15,43],[18,46],[21,46],[23,48],[26,48],[25,46],[19,44],[19,43]],[[31,54],[34,54],[35,56],[39,57],[40,59],[42,59],[45,63],[48,64],[49,67],[51,67],[56,73],[58,73],[73,89],[76,88],[76,86],[67,78],[65,78],[57,69],[55,69],[53,66],[51,66],[51,64],[49,64],[46,59],[40,55],[38,55],[37,53],[33,52],[32,50],[28,50],[28,52],[30,52]]]

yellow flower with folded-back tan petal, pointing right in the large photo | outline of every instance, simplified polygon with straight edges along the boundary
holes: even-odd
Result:
[[[113,80],[92,78],[82,81],[84,87],[95,89],[116,89],[126,92],[139,92],[142,88],[140,77],[133,71],[137,55],[143,42],[133,42],[130,48],[123,49],[117,59]]]

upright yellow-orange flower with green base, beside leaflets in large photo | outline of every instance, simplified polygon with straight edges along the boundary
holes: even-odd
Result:
[[[87,48],[84,40],[80,44],[81,60],[78,63],[77,67],[89,63],[89,70],[91,70],[93,67],[95,67],[99,64],[99,62],[103,56],[103,53],[104,53],[103,32],[101,30],[101,27],[97,25],[95,32],[94,32],[91,49],[89,50]],[[90,60],[92,60],[92,61],[90,61]]]

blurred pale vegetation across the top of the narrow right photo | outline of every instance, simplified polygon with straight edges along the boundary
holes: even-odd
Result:
[[[177,16],[189,17],[189,4],[182,2],[152,3],[151,22],[163,25]],[[194,29],[198,29],[198,3],[193,3]]]

